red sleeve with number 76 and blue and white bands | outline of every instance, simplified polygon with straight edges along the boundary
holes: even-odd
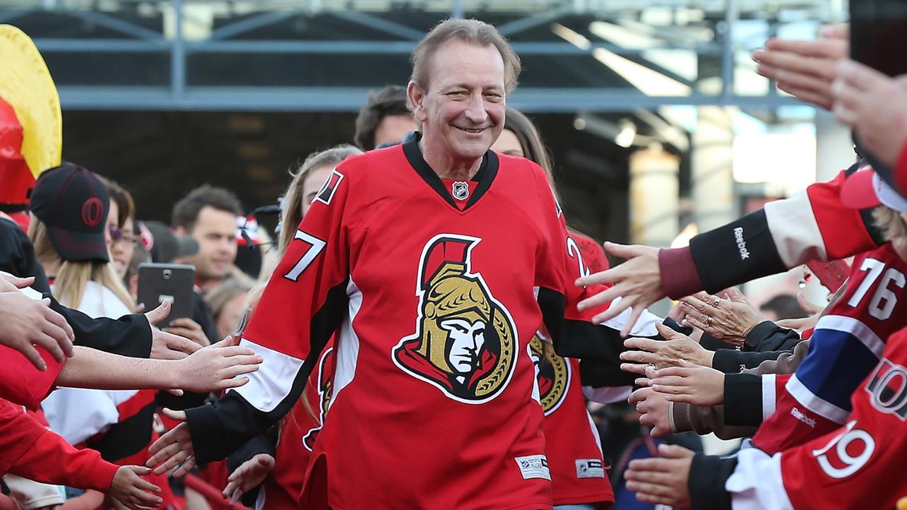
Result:
[[[815,325],[809,353],[778,388],[754,445],[770,454],[843,425],[853,392],[894,331],[907,325],[907,262],[891,243],[853,260],[844,294]]]

